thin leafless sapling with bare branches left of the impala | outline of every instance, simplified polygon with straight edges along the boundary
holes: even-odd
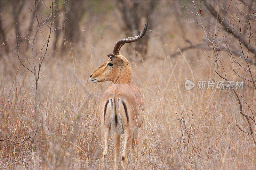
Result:
[[[49,14],[43,15],[43,16],[38,16],[37,13],[37,6],[38,4],[42,3],[44,6],[46,6],[48,8],[48,10],[50,11]],[[18,13],[20,13],[20,10],[22,8],[22,6],[24,5],[24,2],[20,5],[19,7],[19,11],[16,13],[14,13],[15,17],[18,17]],[[57,22],[57,20],[59,19],[59,17],[55,16],[56,11],[58,10],[58,6],[59,6],[59,1],[53,1],[52,0],[52,5],[51,6],[47,6],[45,5],[42,1],[36,1],[35,0],[35,18],[36,18],[36,31],[32,33],[32,36],[29,36],[28,34],[28,47],[31,48],[31,57],[27,57],[25,54],[20,54],[20,43],[22,42],[22,38],[20,36],[20,31],[19,31],[19,26],[17,25],[16,27],[16,51],[10,49],[13,53],[15,53],[20,61],[20,63],[28,70],[30,71],[34,77],[35,77],[35,100],[34,100],[34,124],[35,124],[35,131],[34,131],[34,135],[33,137],[29,137],[31,138],[31,143],[30,143],[30,148],[32,149],[34,141],[35,141],[35,137],[36,137],[36,133],[38,130],[38,124],[39,124],[39,119],[38,119],[38,115],[37,115],[37,92],[38,92],[38,80],[40,78],[40,70],[41,70],[41,66],[43,63],[43,60],[45,57],[47,57],[48,55],[51,55],[52,53],[54,53],[54,51],[52,52],[48,52],[48,46],[49,46],[49,41],[50,41],[50,36],[51,33],[56,31],[57,29],[60,29],[63,25],[53,29],[52,25]],[[16,6],[13,7],[14,9],[16,9]],[[33,20],[33,17],[32,17]],[[32,21],[31,21],[32,22]],[[18,21],[17,21],[18,23]],[[31,25],[31,24],[30,24]],[[48,33],[47,35],[43,34],[43,31],[41,30],[42,27],[47,26],[48,27]],[[34,28],[30,28],[31,30]],[[40,41],[40,39],[37,39],[38,34],[41,33],[43,36],[43,45],[41,47],[41,49],[39,51],[36,51],[35,49],[35,43],[36,41]],[[25,57],[23,57],[23,55],[25,55]],[[24,59],[26,59],[27,64],[25,64]],[[36,60],[38,60],[38,62],[36,62]],[[36,66],[38,64],[38,66]],[[27,138],[28,139],[28,138]]]

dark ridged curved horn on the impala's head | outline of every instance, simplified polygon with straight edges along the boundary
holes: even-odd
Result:
[[[135,42],[135,41],[138,41],[141,37],[143,37],[147,31],[147,28],[148,28],[148,22],[145,24],[145,26],[143,27],[140,35],[137,35],[135,37],[127,37],[127,38],[124,38],[124,39],[121,39],[121,40],[118,40],[116,42],[116,45],[113,49],[113,54],[114,55],[118,55],[119,54],[119,51],[121,49],[121,47],[125,44],[125,43],[130,43],[130,42]]]

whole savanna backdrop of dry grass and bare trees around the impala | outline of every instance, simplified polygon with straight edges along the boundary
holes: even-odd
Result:
[[[89,75],[146,22],[146,35],[120,51],[146,105],[129,168],[256,169],[255,0],[0,5],[1,169],[101,168],[98,106],[112,83]],[[244,85],[197,89],[198,81]]]

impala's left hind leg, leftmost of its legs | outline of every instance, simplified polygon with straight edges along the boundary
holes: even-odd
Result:
[[[101,130],[101,141],[102,141],[102,146],[103,146],[103,156],[101,159],[101,166],[102,169],[106,168],[107,161],[108,161],[108,141],[109,141],[109,132],[110,128],[109,127],[103,127]]]

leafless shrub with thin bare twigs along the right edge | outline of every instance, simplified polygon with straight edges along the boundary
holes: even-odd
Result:
[[[205,40],[209,44],[208,48],[212,49],[214,57],[209,56],[209,59],[214,67],[214,72],[223,80],[228,83],[230,91],[233,93],[233,97],[238,102],[240,108],[240,114],[246,119],[249,132],[243,130],[240,125],[238,128],[244,133],[250,135],[255,143],[255,132],[253,126],[255,126],[255,113],[253,113],[251,106],[248,105],[248,101],[245,100],[241,92],[234,88],[233,82],[236,82],[237,78],[245,81],[248,85],[254,87],[254,94],[256,92],[255,81],[256,77],[253,73],[255,70],[256,50],[255,44],[252,40],[255,39],[255,11],[253,9],[253,3],[250,1],[250,5],[244,1],[233,2],[233,1],[201,1],[193,4],[193,9],[187,10],[195,16],[195,22],[204,31]],[[203,5],[205,9],[203,9]],[[217,7],[217,9],[216,9]],[[218,10],[218,11],[217,11]],[[208,29],[207,21],[204,20],[202,15],[210,12],[213,18],[216,20],[215,29]],[[218,24],[219,23],[219,24]],[[199,47],[200,48],[200,47]],[[202,48],[201,48],[202,49]],[[204,51],[204,49],[202,49]],[[228,58],[223,58],[223,54],[227,54]],[[234,54],[240,54],[240,58],[237,58]],[[226,70],[228,68],[223,64],[224,61],[230,61],[230,68],[233,74]],[[214,75],[210,76],[211,73],[206,73],[216,83],[217,79]],[[244,113],[243,107],[248,107],[251,113]]]

